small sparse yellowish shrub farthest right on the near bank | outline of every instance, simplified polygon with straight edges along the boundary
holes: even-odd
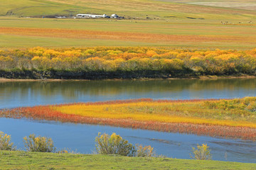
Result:
[[[207,144],[197,145],[197,148],[192,147],[192,149],[192,159],[210,160],[212,158],[210,154],[210,149]]]

